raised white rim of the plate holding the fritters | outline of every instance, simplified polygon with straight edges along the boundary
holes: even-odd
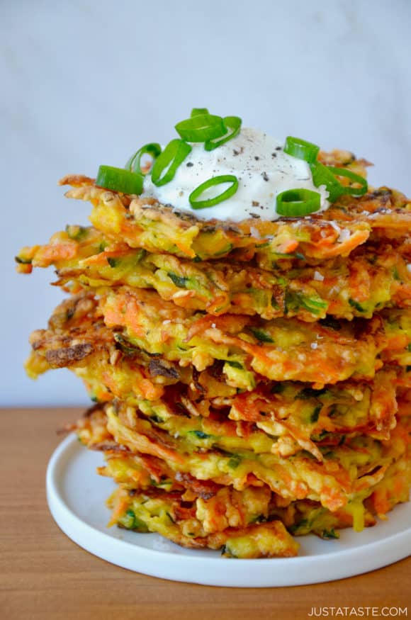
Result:
[[[121,568],[152,577],[200,585],[284,587],[354,577],[395,563],[411,553],[411,525],[405,531],[395,532],[378,541],[368,541],[359,547],[342,549],[337,553],[322,553],[321,556],[295,558],[196,558],[123,541],[86,522],[64,499],[60,488],[62,480],[59,481],[59,477],[64,477],[64,461],[81,456],[80,451],[85,449],[79,444],[77,436],[71,433],[52,453],[46,473],[47,504],[53,519],[69,539],[94,556]],[[370,547],[373,553],[367,553]],[[347,556],[350,560],[348,563],[339,561],[347,560]],[[230,571],[224,570],[220,574],[220,570],[216,569],[221,568],[222,562],[230,563]],[[307,574],[307,569],[314,568],[313,565],[315,571]]]

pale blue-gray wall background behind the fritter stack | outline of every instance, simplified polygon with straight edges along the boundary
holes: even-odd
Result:
[[[410,28],[409,0],[0,0],[0,405],[88,402],[69,371],[34,383],[22,369],[62,294],[13,256],[89,211],[57,179],[122,166],[207,106],[347,148],[410,195]]]

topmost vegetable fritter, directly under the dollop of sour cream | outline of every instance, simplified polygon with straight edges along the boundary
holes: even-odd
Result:
[[[107,191],[87,176],[66,176],[60,184],[74,187],[68,198],[91,201],[91,223],[109,237],[148,252],[199,260],[225,257],[235,249],[241,249],[247,259],[257,251],[260,257],[293,252],[317,259],[347,257],[371,232],[384,230],[390,238],[403,237],[411,225],[411,203],[387,188],[361,198],[340,198],[324,213],[303,219],[233,224],[203,222],[154,198]]]

